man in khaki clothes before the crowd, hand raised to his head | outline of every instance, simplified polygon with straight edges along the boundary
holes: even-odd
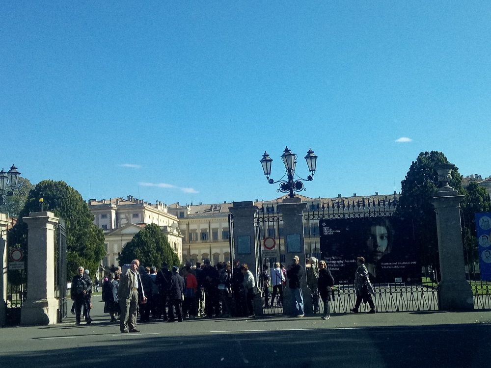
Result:
[[[136,329],[136,309],[138,307],[138,300],[142,303],[147,302],[140,274],[137,271],[139,265],[140,261],[133,260],[130,268],[121,275],[121,279],[119,280],[118,298],[119,307],[121,309],[119,328],[123,334],[128,332],[140,332]]]

